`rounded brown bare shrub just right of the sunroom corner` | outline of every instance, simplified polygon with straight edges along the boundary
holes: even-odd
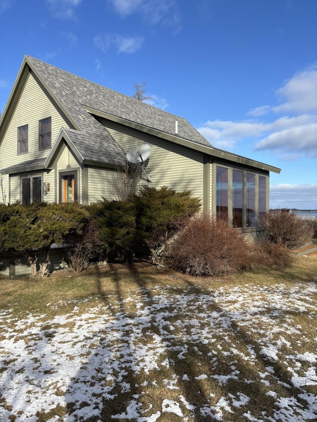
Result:
[[[303,245],[314,235],[312,225],[299,215],[283,210],[270,210],[261,219],[267,240],[288,249]]]

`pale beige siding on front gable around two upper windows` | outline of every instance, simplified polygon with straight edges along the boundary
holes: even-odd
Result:
[[[52,117],[52,145],[61,127],[71,127],[53,98],[29,74],[11,121],[0,145],[2,168],[47,157],[49,149],[39,150],[39,120]],[[17,128],[28,125],[28,153],[17,154]]]

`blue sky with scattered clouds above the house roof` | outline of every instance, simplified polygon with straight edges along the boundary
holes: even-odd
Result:
[[[317,209],[316,0],[0,0],[0,111],[25,54],[185,117]]]

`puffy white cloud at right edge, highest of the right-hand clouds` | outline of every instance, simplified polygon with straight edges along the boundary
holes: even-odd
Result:
[[[286,84],[277,90],[278,98],[286,100],[272,107],[275,112],[304,113],[317,109],[317,64],[296,73]]]

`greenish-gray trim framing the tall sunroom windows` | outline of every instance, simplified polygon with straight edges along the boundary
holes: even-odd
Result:
[[[261,228],[260,224],[260,201],[259,201],[259,195],[260,195],[260,185],[259,185],[259,177],[265,178],[265,189],[266,189],[266,198],[265,198],[265,208],[266,211],[269,209],[269,173],[266,172],[257,172],[254,171],[254,169],[250,169],[248,167],[239,167],[239,166],[230,166],[225,163],[221,162],[213,162],[213,174],[214,177],[214,183],[213,183],[213,205],[212,210],[213,213],[216,215],[217,213],[217,179],[216,179],[216,173],[217,173],[217,167],[225,168],[228,170],[228,189],[227,189],[227,203],[228,203],[228,212],[227,212],[227,220],[230,224],[230,226],[233,226],[233,171],[241,171],[243,173],[242,176],[242,183],[243,183],[243,227],[237,227],[237,229],[243,231],[243,232],[254,232],[259,230]],[[247,225],[247,174],[251,174],[255,176],[255,225],[254,226],[248,226]]]

